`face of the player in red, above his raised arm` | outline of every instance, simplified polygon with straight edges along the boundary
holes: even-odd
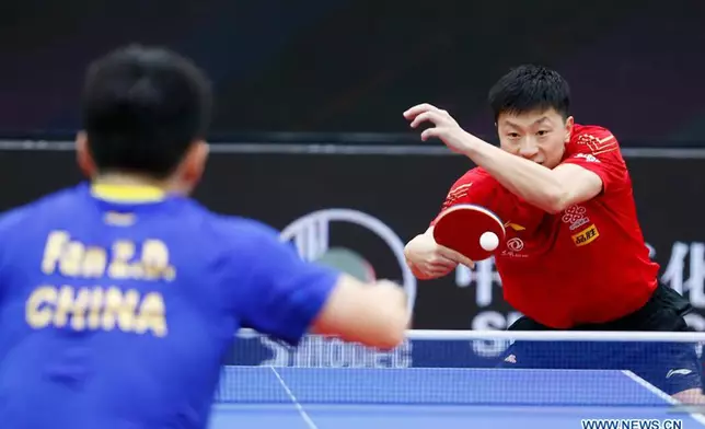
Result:
[[[548,169],[560,163],[571,130],[573,117],[564,120],[553,108],[497,118],[501,149]]]

